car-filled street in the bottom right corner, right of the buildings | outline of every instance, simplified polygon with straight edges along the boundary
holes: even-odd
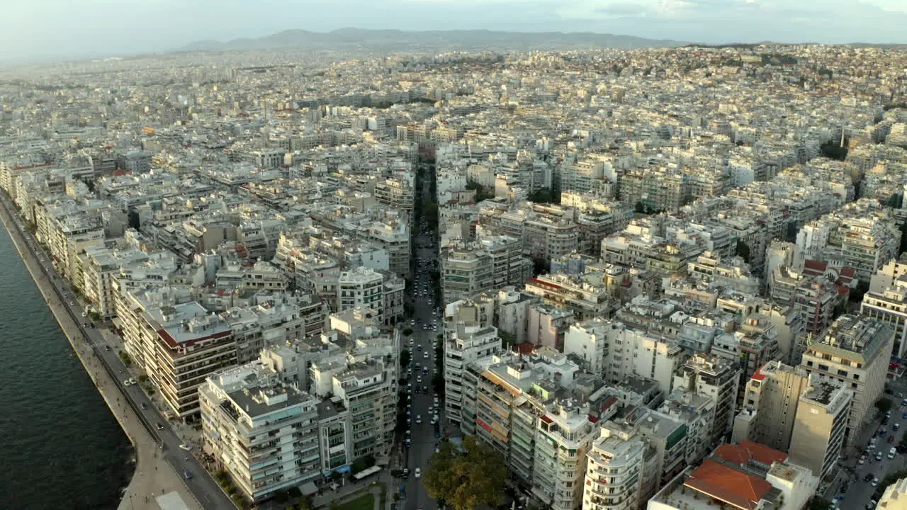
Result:
[[[903,381],[895,381],[892,383],[892,391],[896,393],[902,393],[907,395],[907,385]],[[902,436],[907,430],[907,420],[902,418],[903,413],[907,412],[907,407],[901,407],[901,397],[895,397],[893,395],[886,395],[885,397],[891,398],[894,402],[894,407],[892,407],[892,417],[888,421],[887,425],[881,425],[880,422],[876,421],[875,425],[877,428],[875,430],[887,430],[887,436],[894,436],[892,443],[887,442],[886,437],[879,437],[876,439],[876,448],[872,451],[872,456],[869,456],[866,460],[866,463],[859,465],[856,463],[855,458],[849,458],[844,462],[846,468],[853,468],[853,473],[848,476],[849,487],[847,492],[839,495],[843,496],[843,499],[839,499],[838,505],[840,508],[848,510],[858,510],[863,509],[866,505],[869,505],[873,493],[876,490],[876,487],[873,487],[872,482],[863,482],[863,476],[867,474],[873,474],[881,482],[884,480],[885,476],[895,471],[901,470],[904,468],[905,463],[907,463],[907,458],[901,454],[897,454],[893,459],[888,458],[888,451],[892,446],[897,446],[901,441]],[[892,427],[895,423],[901,424],[901,429],[897,432],[894,432]],[[865,442],[863,442],[865,443]],[[860,445],[861,449],[865,448],[865,444]],[[882,453],[882,460],[875,460],[874,453],[878,451]],[[875,506],[873,505],[873,508]]]

